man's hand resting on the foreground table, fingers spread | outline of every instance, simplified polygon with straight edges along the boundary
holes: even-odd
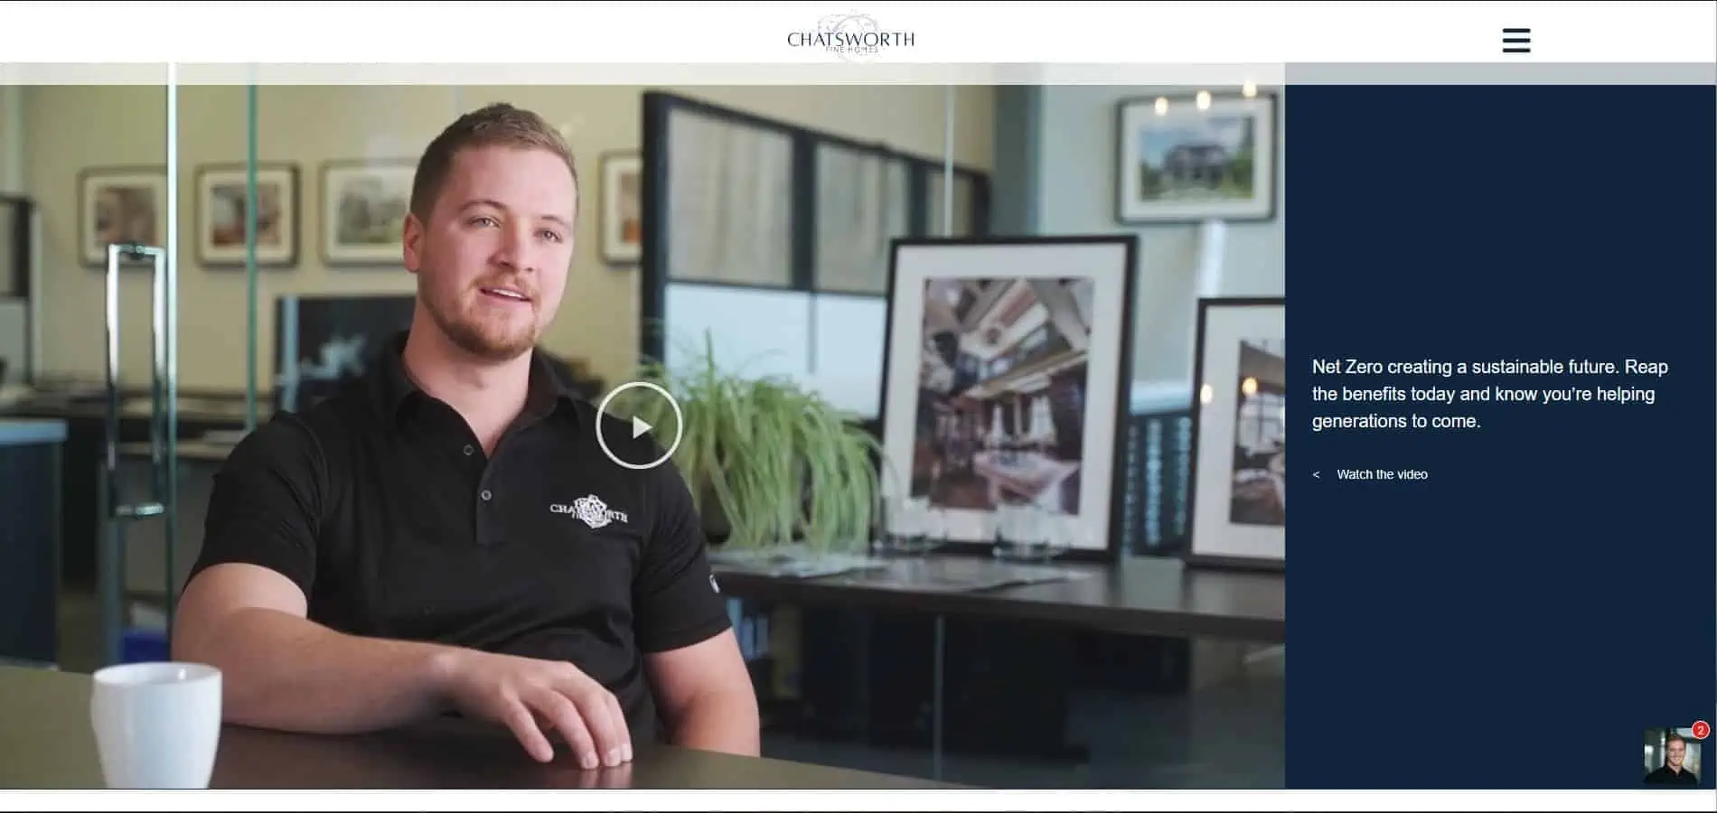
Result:
[[[560,731],[584,768],[632,760],[632,736],[615,695],[563,660],[457,650],[445,695],[465,715],[505,724],[539,762],[555,758],[544,727]]]

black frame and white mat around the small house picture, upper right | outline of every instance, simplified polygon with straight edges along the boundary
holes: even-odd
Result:
[[[1207,220],[1221,220],[1229,223],[1248,223],[1248,221],[1269,221],[1276,220],[1277,196],[1279,196],[1279,175],[1281,175],[1281,105],[1276,93],[1259,91],[1252,96],[1245,93],[1209,93],[1207,108],[1200,110],[1198,94],[1164,94],[1164,96],[1137,96],[1126,98],[1114,106],[1114,220],[1116,223],[1128,226],[1147,226],[1147,225],[1164,225],[1164,223],[1202,223]],[[1190,115],[1210,115],[1210,111],[1221,113],[1224,110],[1245,110],[1259,118],[1253,127],[1253,154],[1264,156],[1267,166],[1253,175],[1253,189],[1257,196],[1253,204],[1224,204],[1224,202],[1204,202],[1204,204],[1144,204],[1137,201],[1138,187],[1132,184],[1135,178],[1133,172],[1140,163],[1140,156],[1135,154],[1137,144],[1133,142],[1133,122],[1147,120],[1157,115],[1159,105],[1166,108],[1162,117],[1183,115],[1186,110],[1193,110]],[[1147,117],[1145,113],[1150,113]],[[1255,165],[1255,163],[1253,163]]]

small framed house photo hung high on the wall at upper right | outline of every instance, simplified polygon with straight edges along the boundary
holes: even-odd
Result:
[[[1126,99],[1118,110],[1116,220],[1276,216],[1276,96]]]

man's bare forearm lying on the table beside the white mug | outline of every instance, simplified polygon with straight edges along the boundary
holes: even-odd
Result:
[[[359,638],[268,609],[246,609],[173,657],[220,667],[225,719],[316,734],[376,731],[443,708],[441,676],[453,650]]]

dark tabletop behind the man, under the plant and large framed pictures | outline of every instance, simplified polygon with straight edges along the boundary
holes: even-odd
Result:
[[[1070,628],[1281,643],[1288,635],[1281,573],[1190,569],[1176,559],[1065,564],[1071,581],[980,592],[879,588],[865,576],[780,578],[719,569],[721,592],[788,604],[840,604],[934,616],[1046,621]]]

